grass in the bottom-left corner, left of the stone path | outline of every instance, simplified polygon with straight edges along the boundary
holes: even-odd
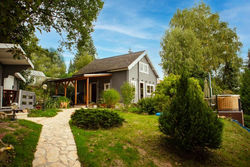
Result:
[[[2,141],[14,146],[14,150],[0,156],[0,166],[31,167],[42,125],[27,120],[0,122]]]

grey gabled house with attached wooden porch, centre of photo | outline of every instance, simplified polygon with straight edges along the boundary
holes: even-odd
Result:
[[[124,82],[135,87],[135,99],[151,96],[157,84],[158,74],[145,51],[104,59],[95,59],[80,69],[71,78],[52,80],[56,87],[65,88],[70,82],[75,85],[75,104],[97,103],[102,91],[110,88],[120,92]]]

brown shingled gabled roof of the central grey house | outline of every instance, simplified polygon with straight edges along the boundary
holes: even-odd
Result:
[[[81,68],[75,75],[127,70],[129,65],[144,54],[144,52],[139,51],[104,59],[95,59],[90,64]]]

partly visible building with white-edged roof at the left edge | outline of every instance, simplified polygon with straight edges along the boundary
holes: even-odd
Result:
[[[12,48],[22,53],[19,58],[13,57]],[[13,102],[18,103],[19,109],[33,108],[34,92],[19,89],[19,83],[26,82],[20,72],[28,68],[34,66],[19,45],[0,43],[0,111],[9,110]]]

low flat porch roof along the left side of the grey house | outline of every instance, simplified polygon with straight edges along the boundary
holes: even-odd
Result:
[[[47,82],[65,82],[65,81],[83,80],[83,79],[87,79],[87,78],[107,77],[107,76],[112,76],[112,74],[111,73],[96,73],[96,74],[74,75],[74,76],[68,77],[68,78],[48,80]]]

